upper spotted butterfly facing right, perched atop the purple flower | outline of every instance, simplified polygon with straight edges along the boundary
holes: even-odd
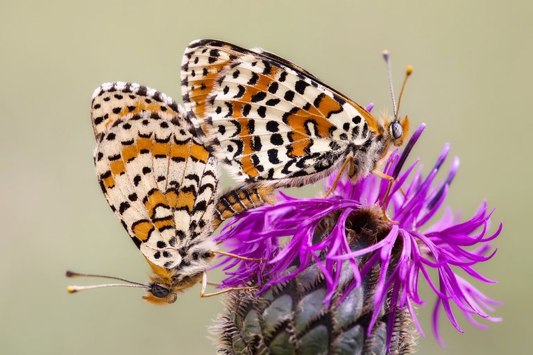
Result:
[[[390,78],[388,54],[386,60]],[[302,186],[333,171],[338,180],[348,168],[353,180],[370,173],[388,179],[390,191],[393,178],[376,166],[408,135],[409,119],[398,118],[399,105],[394,118],[375,119],[289,60],[219,40],[187,46],[181,87],[198,137],[244,184]]]

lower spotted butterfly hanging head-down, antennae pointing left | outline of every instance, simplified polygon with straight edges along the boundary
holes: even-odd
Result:
[[[173,303],[178,291],[198,282],[204,297],[229,291],[204,293],[205,271],[215,254],[253,259],[216,250],[210,236],[223,220],[272,203],[273,189],[218,196],[217,159],[196,137],[183,108],[155,89],[105,83],[93,94],[91,116],[101,190],[153,273],[149,284],[101,276],[128,284],[69,286],[69,291],[142,287],[144,300],[153,304]]]

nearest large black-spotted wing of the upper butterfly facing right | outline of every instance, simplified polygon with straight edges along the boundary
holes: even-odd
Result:
[[[208,144],[246,182],[314,182],[369,138],[353,105],[303,73],[254,55],[220,73],[207,107],[201,128]]]

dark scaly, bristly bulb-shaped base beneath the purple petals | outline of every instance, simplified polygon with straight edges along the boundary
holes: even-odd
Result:
[[[363,230],[352,242],[374,238]],[[296,266],[291,266],[287,272],[294,269]],[[370,334],[366,331],[378,272],[379,268],[373,268],[361,287],[340,300],[353,282],[353,272],[345,261],[331,304],[323,302],[327,284],[314,261],[296,277],[260,296],[252,291],[230,293],[226,311],[212,328],[219,338],[218,354],[387,354],[387,315],[380,317]],[[392,333],[390,354],[411,354],[414,336],[409,313],[396,313]]]

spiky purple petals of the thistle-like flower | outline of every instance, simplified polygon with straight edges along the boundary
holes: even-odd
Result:
[[[435,182],[435,178],[448,156],[447,144],[427,177],[423,177],[421,166],[415,171],[418,160],[404,169],[405,160],[424,128],[425,125],[421,125],[403,153],[395,150],[384,166],[384,173],[396,179],[386,201],[389,216],[396,221],[396,224],[390,225],[388,234],[358,250],[350,249],[346,235],[350,215],[362,209],[376,209],[375,206],[380,205],[384,198],[388,182],[374,175],[355,184],[348,179],[341,179],[332,196],[327,199],[291,198],[280,193],[280,200],[275,206],[261,207],[237,216],[217,238],[218,241],[224,241],[232,253],[268,260],[267,263],[254,263],[223,259],[221,264],[226,265],[224,270],[228,275],[223,286],[242,286],[251,280],[260,284],[261,276],[268,276],[267,284],[260,284],[262,293],[269,286],[298,275],[314,260],[321,268],[328,286],[324,302],[330,303],[339,286],[343,263],[350,264],[354,279],[341,300],[353,288],[360,286],[371,270],[380,266],[368,332],[371,332],[380,317],[380,311],[387,306],[389,347],[397,309],[407,309],[411,313],[416,328],[423,336],[414,311],[414,304],[425,303],[418,295],[420,276],[437,295],[433,330],[441,345],[443,342],[438,330],[441,309],[453,326],[462,332],[451,304],[455,304],[465,318],[477,327],[484,325],[478,323],[474,315],[499,321],[499,318],[492,318],[488,314],[493,311],[492,306],[499,303],[480,293],[456,271],[462,270],[473,279],[493,283],[476,272],[473,266],[491,259],[496,253],[496,250],[490,252],[490,241],[500,234],[502,224],[499,224],[496,232],[487,234],[493,213],[493,209],[489,211],[487,208],[487,202],[483,202],[472,218],[465,222],[461,223],[459,216],[445,208],[439,220],[428,223],[446,199],[459,167],[459,159],[452,159],[447,178],[440,182]],[[335,180],[335,174],[325,180],[327,191]],[[327,235],[316,240],[319,223],[332,214],[338,214],[335,226],[330,228]],[[280,238],[285,236],[290,239],[285,247],[280,248]],[[285,270],[295,261],[299,263],[298,269],[287,275]],[[438,279],[430,277],[431,269],[437,272]]]

